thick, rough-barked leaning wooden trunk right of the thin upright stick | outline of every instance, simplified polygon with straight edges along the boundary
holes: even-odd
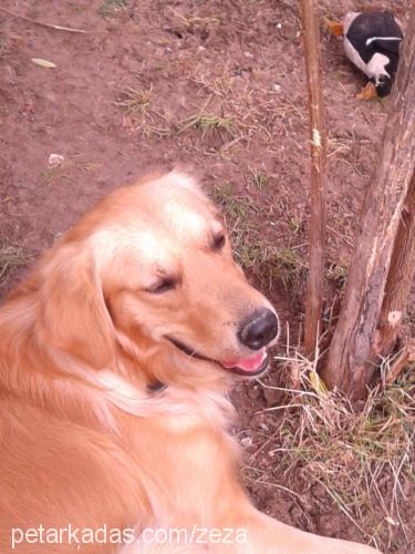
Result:
[[[415,166],[415,7],[401,52],[380,156],[367,186],[339,324],[323,379],[363,398],[401,215]]]

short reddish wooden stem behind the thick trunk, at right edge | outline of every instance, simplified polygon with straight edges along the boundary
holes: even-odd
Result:
[[[415,116],[415,115],[414,115]],[[415,173],[392,253],[378,324],[377,350],[387,356],[395,346],[415,276]]]

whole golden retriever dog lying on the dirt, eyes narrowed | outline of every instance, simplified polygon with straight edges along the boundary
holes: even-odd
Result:
[[[0,309],[0,552],[374,552],[239,483],[227,391],[277,335],[191,178],[110,194]]]

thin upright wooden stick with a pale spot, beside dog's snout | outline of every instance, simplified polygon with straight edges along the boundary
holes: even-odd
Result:
[[[301,0],[311,136],[309,285],[304,325],[304,349],[308,356],[315,351],[321,331],[325,249],[326,136],[317,3],[317,0]]]

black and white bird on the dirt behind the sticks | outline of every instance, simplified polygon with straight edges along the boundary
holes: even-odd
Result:
[[[343,34],[349,60],[369,78],[360,98],[385,96],[396,74],[404,33],[390,11],[349,12],[341,24],[329,23],[334,34]]]

